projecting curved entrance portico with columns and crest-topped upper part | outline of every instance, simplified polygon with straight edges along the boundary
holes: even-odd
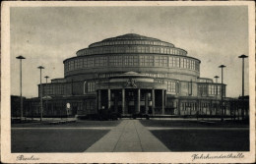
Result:
[[[123,116],[164,114],[165,85],[138,73],[123,74],[108,82],[99,82],[96,93],[97,110],[110,110]]]

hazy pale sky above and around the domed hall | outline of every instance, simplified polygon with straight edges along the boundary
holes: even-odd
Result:
[[[221,77],[224,64],[226,96],[241,95],[241,54],[248,55],[246,6],[155,7],[13,7],[10,11],[11,94],[36,97],[42,77],[64,78],[63,61],[91,43],[126,33],[159,38],[201,60],[201,78]],[[45,79],[42,79],[45,82]],[[221,82],[221,79],[219,79]],[[245,59],[245,95],[248,94]]]

